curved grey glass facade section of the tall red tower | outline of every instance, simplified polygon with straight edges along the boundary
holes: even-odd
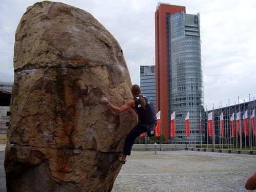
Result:
[[[176,137],[170,139],[178,143],[200,143],[200,112],[204,119],[200,16],[179,12],[169,18],[168,116],[176,112]],[[185,117],[188,111],[189,138],[185,137]]]

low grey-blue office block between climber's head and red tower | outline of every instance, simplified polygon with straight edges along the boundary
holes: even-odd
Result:
[[[140,88],[142,95],[145,95],[156,107],[155,66],[140,66]]]

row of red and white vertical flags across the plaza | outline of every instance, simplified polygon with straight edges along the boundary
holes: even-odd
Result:
[[[155,127],[155,135],[156,137],[160,136],[160,116],[161,116],[161,111],[157,113],[157,126]],[[236,126],[237,125],[237,131],[238,134],[241,136],[240,132],[240,124],[241,124],[241,112],[238,112],[236,114],[236,122],[234,119],[235,114],[232,113],[230,117],[230,125],[231,125],[231,137],[236,137]],[[170,137],[175,137],[175,111],[173,114],[170,116],[171,122],[170,122]],[[225,131],[224,131],[224,115],[223,112],[219,116],[219,127],[220,127],[220,135],[221,137],[225,137]],[[250,123],[251,123],[251,129],[252,133],[254,136],[256,136],[256,129],[255,129],[255,110],[252,111],[251,118],[250,118]],[[199,121],[199,126],[200,126],[200,132],[202,136],[202,114],[200,112],[200,121]],[[213,137],[214,136],[214,127],[213,127],[213,120],[212,120],[212,112],[208,114],[208,136]],[[246,110],[243,115],[243,131],[246,136],[249,136],[249,127],[248,127],[248,111]],[[141,136],[145,136],[145,133],[141,134]],[[189,111],[187,112],[187,115],[185,117],[185,137],[190,136],[190,126],[189,126]]]

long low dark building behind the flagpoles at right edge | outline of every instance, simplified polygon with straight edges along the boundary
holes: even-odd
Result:
[[[254,126],[251,124],[251,117],[254,111],[256,110],[256,100],[252,100],[249,102],[239,103],[236,105],[225,106],[224,108],[218,108],[214,110],[205,111],[205,126],[203,131],[203,138],[205,144],[224,144],[224,145],[232,145],[232,147],[240,147],[241,146],[256,146],[256,133],[253,134],[252,127],[255,127],[256,121],[254,121]],[[249,134],[245,134],[245,124],[244,124],[244,114],[247,111],[247,126],[249,130]],[[240,112],[240,113],[239,113]],[[212,127],[213,135],[209,136],[208,134],[208,114],[212,113]],[[221,134],[220,128],[220,119],[221,114],[223,113],[223,135]],[[231,116],[233,114],[234,120],[234,135],[231,132]],[[237,119],[240,118],[239,121],[239,129],[241,131],[241,135],[238,131],[238,123]]]

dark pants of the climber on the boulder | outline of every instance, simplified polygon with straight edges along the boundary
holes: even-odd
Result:
[[[141,124],[137,124],[133,127],[132,131],[126,136],[123,147],[123,155],[131,155],[133,143],[140,134],[147,131],[147,127]]]

